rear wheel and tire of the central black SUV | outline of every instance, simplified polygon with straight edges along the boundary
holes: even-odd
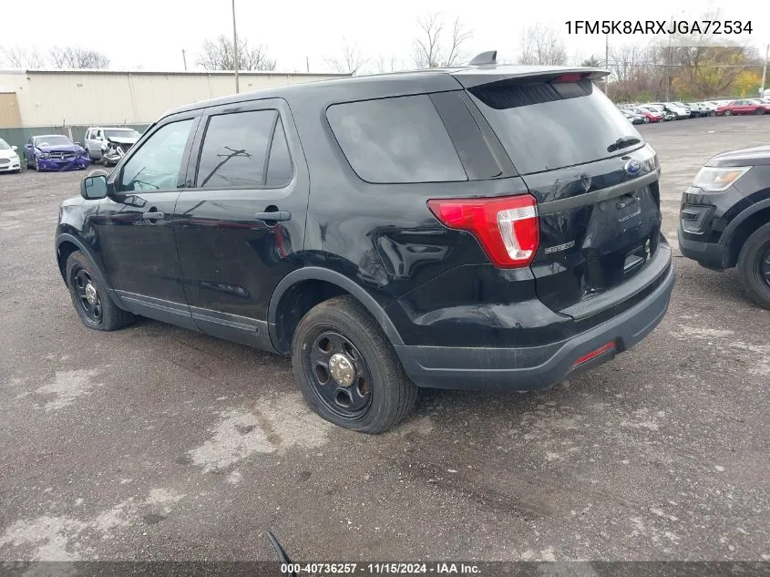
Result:
[[[415,406],[417,386],[375,319],[352,296],[324,301],[303,316],[292,362],[305,401],[339,427],[383,433]]]

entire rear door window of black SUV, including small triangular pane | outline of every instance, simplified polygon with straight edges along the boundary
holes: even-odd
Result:
[[[278,188],[288,184],[292,174],[292,160],[277,110],[210,118],[200,148],[198,188]]]

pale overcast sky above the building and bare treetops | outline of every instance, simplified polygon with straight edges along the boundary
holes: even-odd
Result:
[[[693,19],[715,5],[703,0],[644,0],[643,2],[585,2],[548,0],[479,2],[470,0],[386,0],[385,2],[302,2],[236,0],[239,36],[268,47],[277,70],[328,70],[325,60],[340,52],[343,38],[366,56],[397,57],[411,65],[416,18],[438,12],[447,24],[455,17],[473,31],[467,52],[497,49],[499,57],[515,58],[526,26],[541,23],[562,34],[570,57],[603,57],[604,36],[567,34],[568,20]],[[752,44],[770,42],[770,2],[733,2],[720,19],[751,20]],[[11,12],[9,13],[8,10]],[[13,15],[13,12],[16,15]],[[0,18],[0,45],[37,47],[77,45],[97,49],[111,67],[145,70],[195,67],[206,38],[232,34],[231,0],[97,0],[77,3],[35,0],[5,5]],[[611,45],[647,43],[653,36],[610,36]]]

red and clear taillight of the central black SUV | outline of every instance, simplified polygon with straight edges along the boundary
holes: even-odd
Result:
[[[538,251],[538,201],[530,194],[436,199],[427,206],[450,229],[472,232],[498,267],[529,266]]]

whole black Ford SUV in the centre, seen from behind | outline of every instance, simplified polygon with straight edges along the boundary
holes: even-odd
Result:
[[[655,152],[594,68],[353,77],[170,112],[61,206],[88,327],[134,314],[292,355],[376,433],[417,387],[550,386],[662,319]]]

